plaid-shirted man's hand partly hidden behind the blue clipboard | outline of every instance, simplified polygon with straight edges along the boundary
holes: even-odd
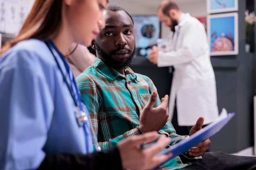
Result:
[[[204,118],[199,117],[198,120],[196,121],[196,124],[189,131],[189,136],[193,135],[198,130],[201,130],[203,123],[204,123]],[[188,150],[189,156],[199,157],[204,155],[204,153],[209,149],[210,144],[211,144],[211,141],[209,138],[205,139],[204,141],[201,141],[199,144],[197,144],[196,146],[193,146]]]

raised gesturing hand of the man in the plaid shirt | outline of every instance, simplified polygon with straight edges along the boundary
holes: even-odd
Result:
[[[139,128],[142,132],[158,131],[168,121],[168,95],[161,99],[161,104],[153,108],[157,100],[157,92],[153,91],[146,106],[139,116]]]

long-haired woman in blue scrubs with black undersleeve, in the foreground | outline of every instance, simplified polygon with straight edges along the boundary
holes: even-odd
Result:
[[[0,51],[0,169],[149,169],[168,144],[139,149],[148,133],[101,152],[65,57],[105,26],[108,0],[36,0],[16,38]],[[154,100],[154,97],[151,97]],[[94,152],[94,149],[99,152]]]

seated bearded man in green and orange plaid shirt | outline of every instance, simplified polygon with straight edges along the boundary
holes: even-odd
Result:
[[[135,51],[132,17],[123,8],[110,5],[104,12],[104,19],[105,28],[100,30],[92,42],[97,57],[92,66],[76,78],[83,101],[88,107],[99,146],[106,150],[124,138],[150,131],[157,131],[159,136],[174,139],[168,146],[180,142],[175,141],[180,135],[175,133],[171,122],[168,121],[168,95],[161,101],[152,80],[130,68]],[[189,135],[202,129],[203,122],[203,117],[199,117]],[[186,137],[189,136],[181,138],[184,140]],[[210,143],[208,138],[159,168],[201,170],[205,166],[215,168],[219,165],[222,169],[233,170],[237,167],[236,163],[241,168],[240,164],[252,167],[256,162],[255,157],[243,159],[220,152],[204,155]],[[223,159],[224,157],[226,159]]]

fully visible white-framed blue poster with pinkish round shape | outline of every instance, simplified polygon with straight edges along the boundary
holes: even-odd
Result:
[[[210,55],[238,54],[238,13],[207,16]]]

